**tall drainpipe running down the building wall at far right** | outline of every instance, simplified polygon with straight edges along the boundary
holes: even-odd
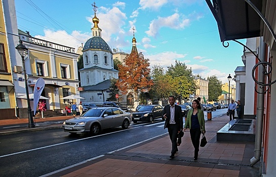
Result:
[[[259,47],[259,59],[265,61],[265,43],[263,37],[260,37],[260,47]],[[264,67],[262,65],[258,66],[258,81],[264,83]],[[256,135],[255,135],[255,149],[254,157],[250,159],[250,165],[253,166],[261,158],[261,148],[262,148],[262,127],[263,127],[263,110],[264,110],[264,86],[258,85],[259,93],[257,94],[257,117],[256,117]]]

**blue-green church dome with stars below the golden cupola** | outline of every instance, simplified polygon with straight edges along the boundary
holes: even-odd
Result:
[[[98,50],[112,53],[108,44],[99,36],[91,37],[86,41],[83,52],[88,50]]]

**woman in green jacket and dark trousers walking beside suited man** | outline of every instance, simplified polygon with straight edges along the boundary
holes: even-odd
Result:
[[[188,111],[184,131],[186,131],[187,128],[190,129],[191,142],[194,147],[193,160],[197,160],[200,151],[200,137],[201,134],[205,134],[206,132],[205,119],[198,100],[193,100],[191,106],[192,109]]]

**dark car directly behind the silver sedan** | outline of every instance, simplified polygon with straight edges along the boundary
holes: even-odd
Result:
[[[163,107],[161,105],[144,105],[138,109],[137,112],[131,114],[132,121],[136,123],[137,121],[148,121],[153,122],[154,119],[162,118]]]

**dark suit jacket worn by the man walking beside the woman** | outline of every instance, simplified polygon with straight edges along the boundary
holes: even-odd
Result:
[[[179,130],[183,129],[183,117],[182,117],[182,110],[181,107],[178,105],[174,105],[174,120],[175,123],[178,125]],[[167,113],[167,114],[166,114]],[[170,105],[165,106],[162,116],[164,116],[164,114],[166,114],[167,119],[165,120],[165,124],[164,124],[164,129],[168,128],[170,119],[171,119],[171,109],[170,109]]]

